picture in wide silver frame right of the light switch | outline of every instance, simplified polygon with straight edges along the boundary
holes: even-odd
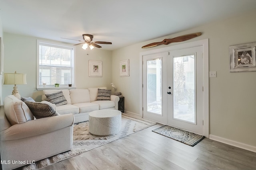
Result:
[[[256,71],[255,47],[256,43],[230,46],[230,72]]]

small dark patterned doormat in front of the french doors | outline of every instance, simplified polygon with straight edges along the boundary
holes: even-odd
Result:
[[[194,147],[198,142],[204,139],[204,136],[202,135],[184,131],[182,129],[178,129],[176,127],[171,127],[168,125],[155,129],[153,130],[153,132],[174,139],[176,141],[179,141],[192,147]]]

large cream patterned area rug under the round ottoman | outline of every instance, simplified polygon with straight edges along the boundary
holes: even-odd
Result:
[[[88,150],[100,147],[106,143],[110,143],[132,133],[141,131],[142,129],[155,125],[156,122],[133,117],[131,115],[128,116],[127,114],[122,113],[121,131],[116,135],[106,137],[99,137],[89,133],[88,124],[88,121],[74,124],[72,150],[39,160],[35,164],[23,166],[22,170],[39,170],[56,162],[60,162],[64,159],[76,156]]]

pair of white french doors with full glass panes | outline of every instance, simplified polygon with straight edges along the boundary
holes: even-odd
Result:
[[[202,46],[143,56],[143,117],[203,134]]]

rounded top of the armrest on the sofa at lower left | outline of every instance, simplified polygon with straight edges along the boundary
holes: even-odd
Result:
[[[25,123],[15,124],[1,131],[0,140],[8,141],[32,137],[73,126],[73,124],[74,115],[72,113],[26,121]]]

